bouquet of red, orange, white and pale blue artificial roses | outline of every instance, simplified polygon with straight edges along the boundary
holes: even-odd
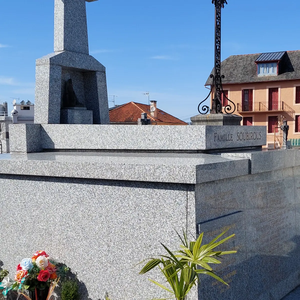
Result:
[[[60,277],[68,270],[45,251],[37,251],[31,258],[21,261],[13,279],[9,275],[3,278],[0,291],[5,298],[9,291],[16,291],[28,300],[49,300]]]

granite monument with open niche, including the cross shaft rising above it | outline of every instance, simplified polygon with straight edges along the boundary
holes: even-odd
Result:
[[[88,0],[92,2],[96,0]],[[35,123],[59,124],[66,81],[92,124],[109,124],[105,67],[88,54],[85,0],[54,1],[54,53],[36,61]],[[87,124],[87,123],[85,123]]]

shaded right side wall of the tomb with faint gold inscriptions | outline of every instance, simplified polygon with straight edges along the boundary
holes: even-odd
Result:
[[[244,239],[235,244],[241,256],[229,268],[220,266],[219,274],[230,280],[230,288],[220,285],[209,291],[204,285],[199,295],[209,293],[214,300],[279,300],[299,285],[299,174],[295,166],[196,184],[200,230],[205,231],[205,224],[228,226]],[[240,214],[244,218],[235,226],[231,218]]]

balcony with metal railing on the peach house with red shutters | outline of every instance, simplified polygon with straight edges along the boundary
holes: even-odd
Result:
[[[238,103],[237,112],[238,113],[257,113],[257,112],[286,112],[289,115],[294,115],[295,110],[289,107],[285,102],[255,102],[251,105],[248,103]]]

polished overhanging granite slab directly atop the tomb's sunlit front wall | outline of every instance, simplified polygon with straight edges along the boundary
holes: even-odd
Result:
[[[248,162],[209,154],[43,152],[1,155],[0,172],[196,184],[246,175]]]

